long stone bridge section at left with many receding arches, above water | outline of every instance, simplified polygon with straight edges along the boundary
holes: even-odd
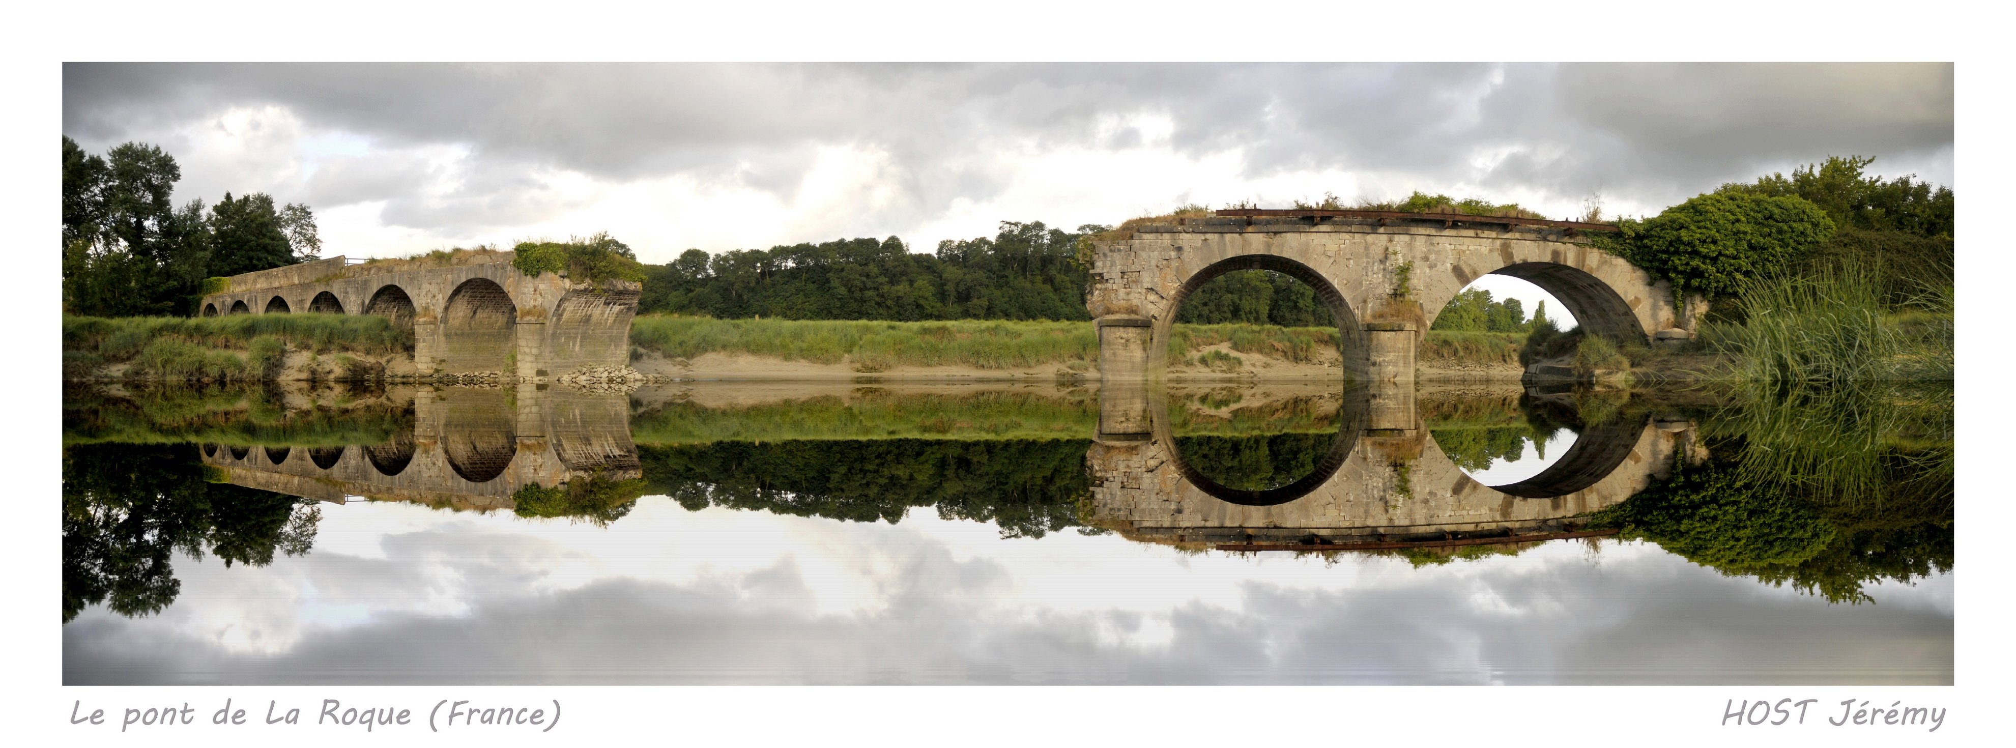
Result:
[[[421,373],[548,377],[629,363],[641,284],[518,272],[512,252],[329,258],[226,278],[202,315],[383,315],[413,331]]]

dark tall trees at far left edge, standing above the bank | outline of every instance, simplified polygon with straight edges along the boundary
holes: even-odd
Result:
[[[105,155],[62,137],[62,310],[91,317],[196,313],[204,278],[314,260],[314,212],[254,192],[175,206],[181,167],[157,145]]]

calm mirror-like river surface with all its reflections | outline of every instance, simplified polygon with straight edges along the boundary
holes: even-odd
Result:
[[[1951,683],[1951,389],[67,393],[67,683]]]

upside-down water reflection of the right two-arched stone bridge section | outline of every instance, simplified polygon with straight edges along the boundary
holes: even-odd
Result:
[[[1087,454],[1091,520],[1133,540],[1222,550],[1379,550],[1609,534],[1579,516],[1665,478],[1675,454],[1704,456],[1681,419],[1583,427],[1540,474],[1508,486],[1470,478],[1435,444],[1411,383],[1345,393],[1337,442],[1300,480],[1226,486],[1187,462],[1155,385],[1109,381]]]

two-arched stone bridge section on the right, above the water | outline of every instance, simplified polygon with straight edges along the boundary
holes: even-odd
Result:
[[[1183,296],[1230,270],[1276,270],[1331,306],[1345,367],[1413,379],[1413,351],[1435,315],[1484,274],[1530,280],[1583,329],[1611,339],[1685,339],[1704,308],[1673,306],[1665,280],[1589,246],[1605,224],[1371,210],[1222,210],[1095,242],[1087,306],[1105,379],[1149,377],[1167,363]]]

